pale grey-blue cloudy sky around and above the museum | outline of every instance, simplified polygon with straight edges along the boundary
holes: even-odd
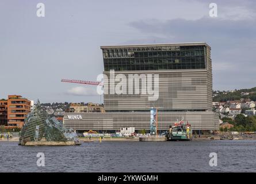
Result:
[[[0,0],[0,99],[99,103],[95,86],[60,79],[96,81],[100,46],[193,41],[212,48],[213,90],[256,86],[256,1]]]

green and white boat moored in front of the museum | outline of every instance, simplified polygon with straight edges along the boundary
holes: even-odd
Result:
[[[192,128],[188,122],[181,120],[170,125],[169,131],[166,133],[167,141],[190,141],[193,139]]]

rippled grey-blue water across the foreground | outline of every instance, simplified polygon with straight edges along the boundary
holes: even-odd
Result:
[[[1,172],[256,171],[256,140],[190,142],[102,141],[80,146],[24,147],[0,141]],[[45,167],[37,167],[37,153]],[[217,167],[209,166],[216,152]]]

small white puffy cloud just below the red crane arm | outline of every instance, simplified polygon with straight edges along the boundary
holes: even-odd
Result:
[[[66,94],[68,95],[75,95],[75,96],[97,96],[97,91],[90,88],[90,87],[72,87],[71,89],[67,90]]]

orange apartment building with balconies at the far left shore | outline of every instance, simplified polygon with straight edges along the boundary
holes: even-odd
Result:
[[[8,95],[7,100],[0,101],[0,122],[8,127],[21,128],[30,113],[30,107],[31,102],[21,95]]]

